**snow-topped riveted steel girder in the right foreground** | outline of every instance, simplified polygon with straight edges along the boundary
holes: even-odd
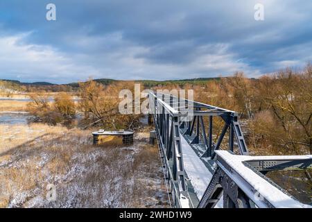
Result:
[[[221,196],[223,207],[312,207],[300,203],[256,171],[271,170],[272,167],[276,167],[275,170],[311,168],[312,155],[252,157],[233,155],[228,151],[216,151],[216,155],[218,167],[198,207],[215,207]],[[270,169],[263,167],[263,162],[270,163]]]

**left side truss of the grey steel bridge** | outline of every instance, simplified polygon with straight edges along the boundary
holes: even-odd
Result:
[[[164,95],[150,93],[149,99],[173,205],[191,207],[180,141],[180,117],[172,104],[164,102]]]

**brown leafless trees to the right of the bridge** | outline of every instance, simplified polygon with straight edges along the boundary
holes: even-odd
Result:
[[[282,69],[257,79],[237,72],[203,86],[184,88],[194,90],[195,101],[239,112],[247,124],[252,151],[312,153],[312,65],[302,70]]]

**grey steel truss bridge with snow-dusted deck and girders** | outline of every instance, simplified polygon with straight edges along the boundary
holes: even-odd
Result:
[[[312,155],[250,156],[237,112],[171,94],[148,97],[172,207],[311,207],[265,174],[311,169]],[[216,118],[223,128],[214,133]]]

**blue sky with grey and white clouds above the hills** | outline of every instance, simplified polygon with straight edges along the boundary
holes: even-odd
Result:
[[[0,79],[257,78],[300,69],[311,52],[311,0],[0,1]]]

